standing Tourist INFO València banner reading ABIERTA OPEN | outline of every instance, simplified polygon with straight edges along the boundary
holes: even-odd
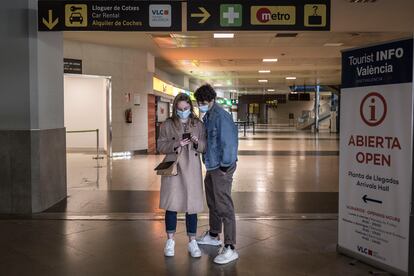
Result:
[[[413,41],[342,54],[339,249],[408,273]]]

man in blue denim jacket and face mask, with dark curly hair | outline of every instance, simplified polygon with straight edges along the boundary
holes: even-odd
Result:
[[[224,247],[214,259],[217,264],[227,264],[239,258],[236,244],[236,218],[231,186],[236,170],[238,129],[231,115],[216,103],[216,92],[206,84],[194,94],[207,131],[207,149],[203,161],[207,169],[204,180],[210,229],[198,244],[220,246],[219,234],[224,226]]]

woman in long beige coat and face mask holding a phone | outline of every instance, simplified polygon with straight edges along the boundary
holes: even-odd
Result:
[[[158,151],[167,155],[165,160],[178,158],[178,175],[161,177],[160,208],[166,210],[168,239],[164,254],[167,257],[174,256],[177,212],[186,213],[188,252],[194,258],[201,257],[195,236],[197,213],[204,209],[200,153],[204,152],[205,146],[205,129],[194,113],[190,97],[178,94],[174,99],[172,117],[161,125],[158,138]]]

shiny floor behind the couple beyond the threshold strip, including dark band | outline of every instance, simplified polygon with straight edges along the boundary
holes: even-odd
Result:
[[[264,128],[260,131],[267,131]],[[336,213],[338,135],[310,132],[240,133],[233,197],[242,214]],[[68,154],[68,194],[48,212],[145,213],[158,209],[160,155],[99,161]],[[318,204],[315,204],[317,202]]]

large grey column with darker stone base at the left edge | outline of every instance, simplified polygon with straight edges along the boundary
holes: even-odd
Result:
[[[63,36],[37,32],[37,1],[0,10],[0,213],[66,197]]]

